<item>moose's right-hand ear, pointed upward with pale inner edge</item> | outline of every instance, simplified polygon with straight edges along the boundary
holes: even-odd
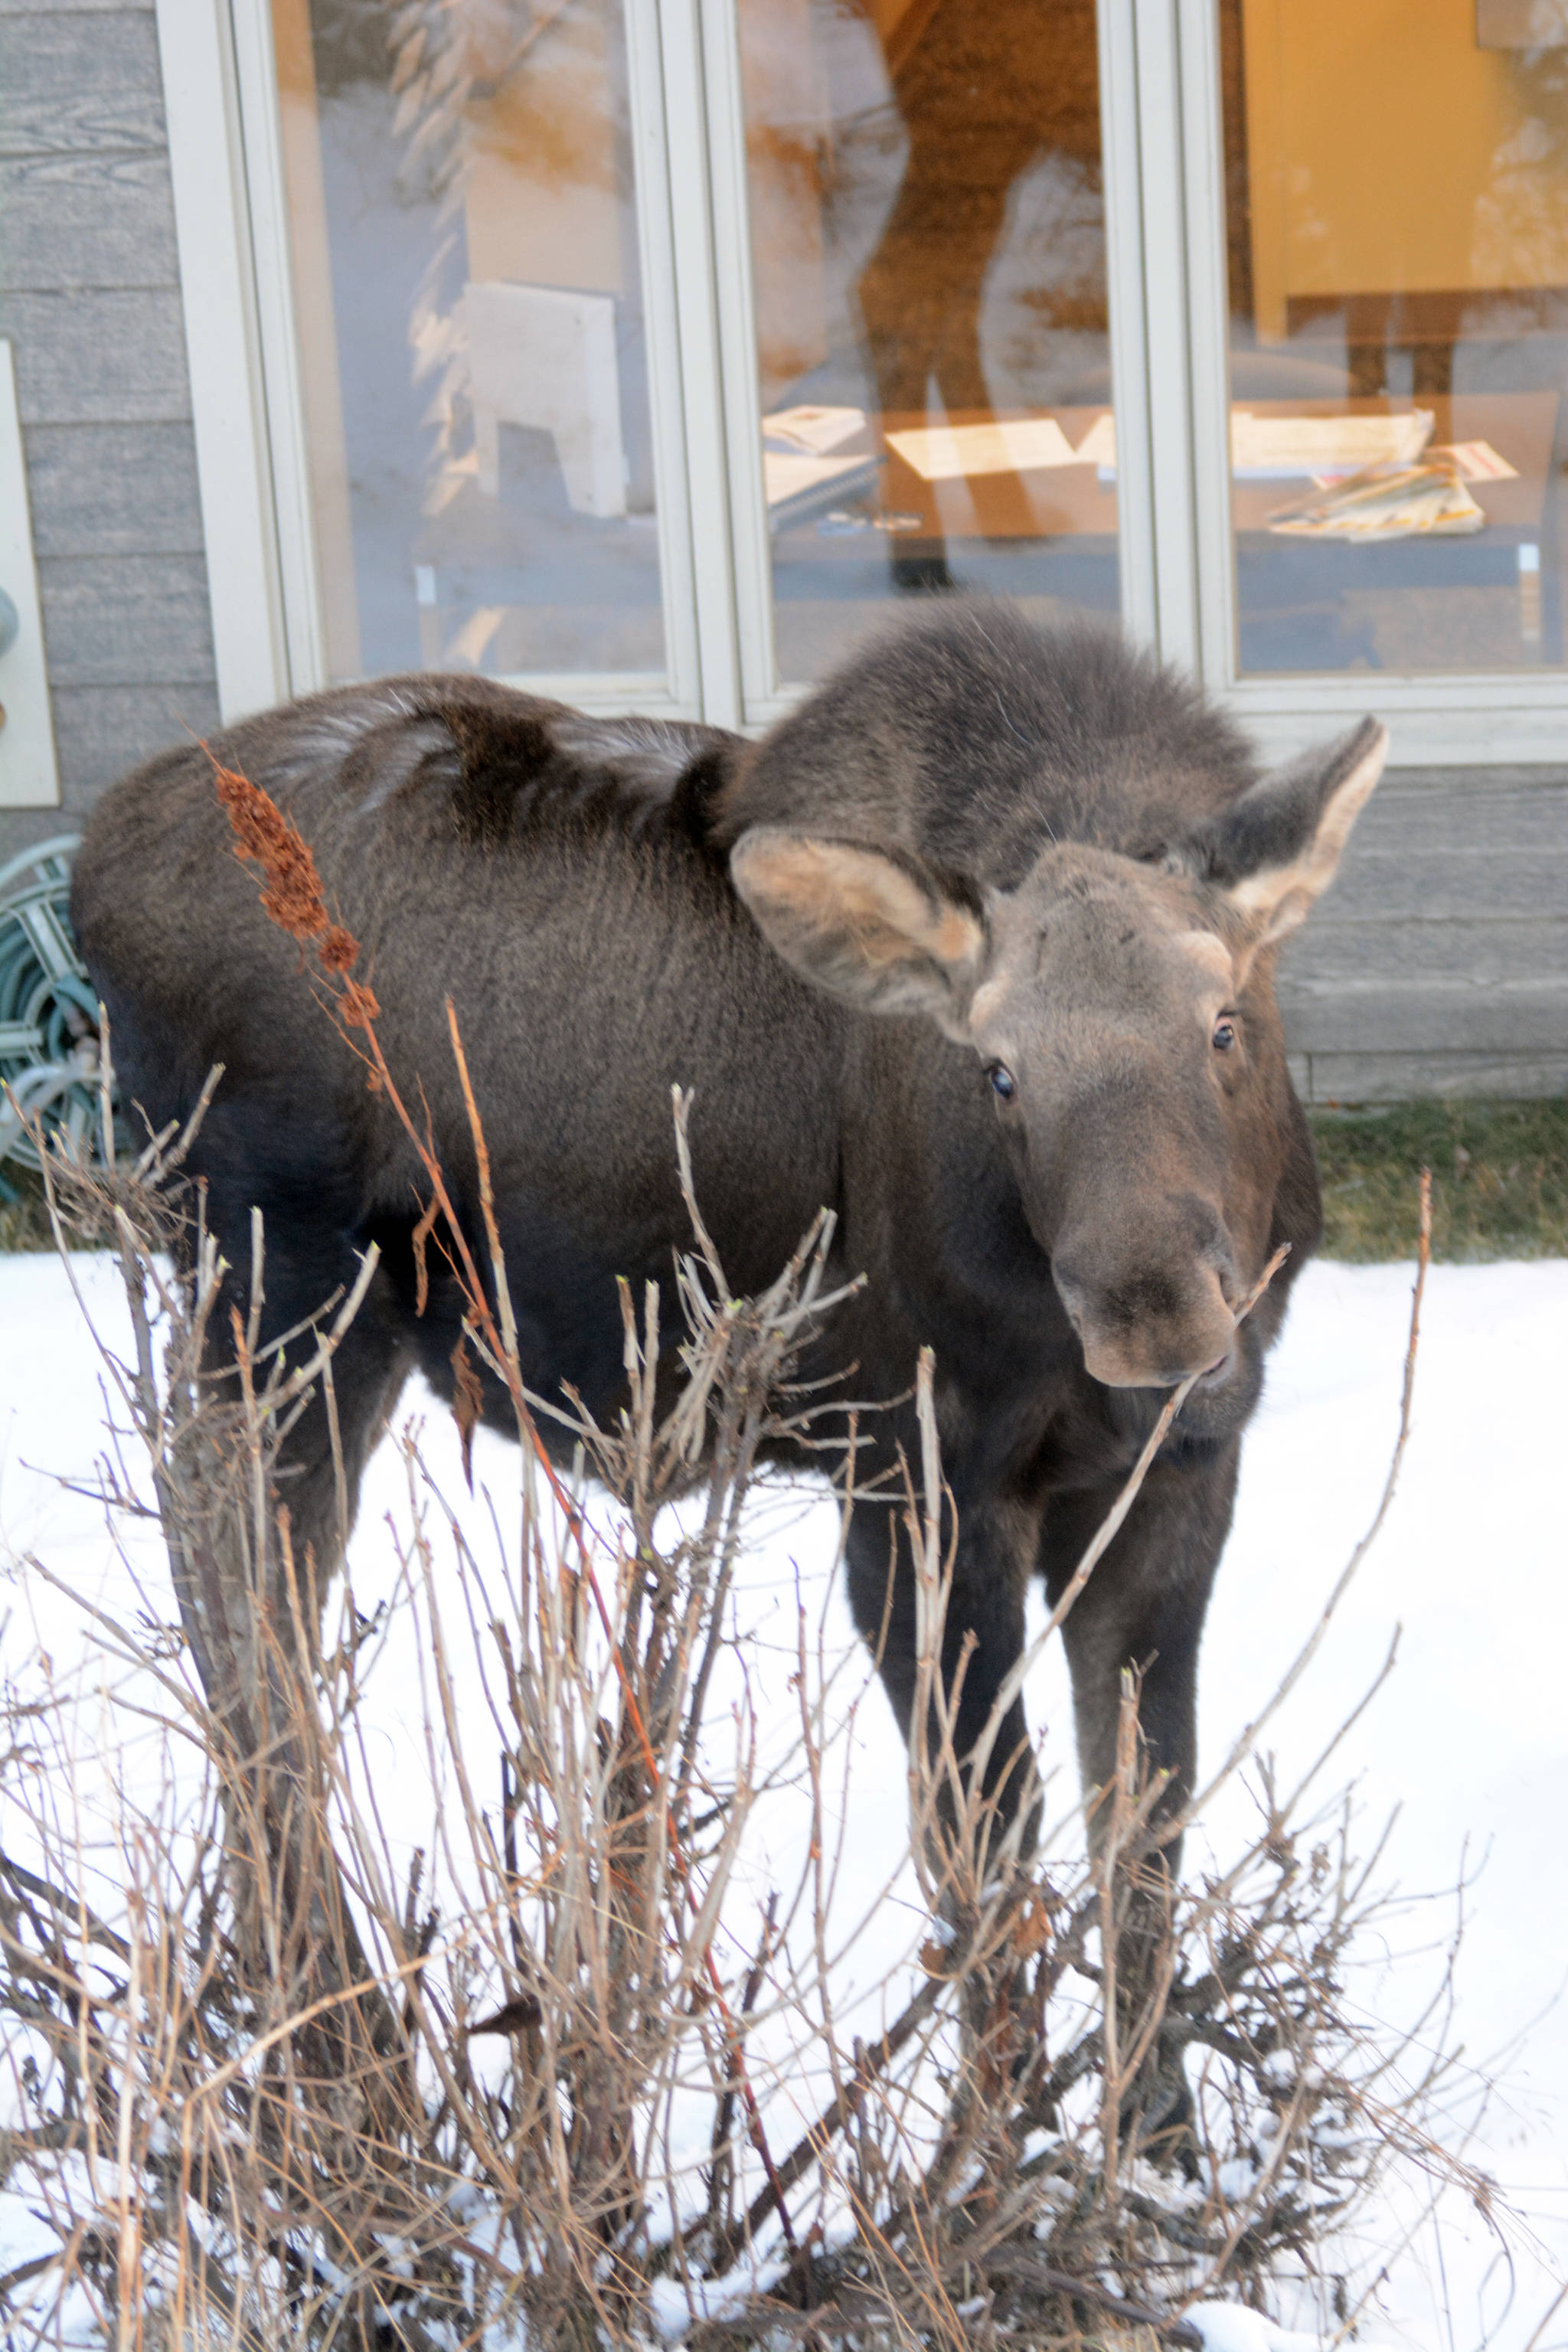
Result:
[[[1389,731],[1361,720],[1338,743],[1302,753],[1262,776],[1175,849],[1190,873],[1218,882],[1267,948],[1298,922],[1335,877],[1349,828],[1371,800]]]

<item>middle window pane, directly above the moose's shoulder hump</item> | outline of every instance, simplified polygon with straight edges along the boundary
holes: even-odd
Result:
[[[741,49],[780,677],[903,595],[1114,614],[1093,0],[741,0]]]

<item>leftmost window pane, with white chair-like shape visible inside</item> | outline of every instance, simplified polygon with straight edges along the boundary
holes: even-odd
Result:
[[[273,0],[327,668],[663,673],[618,0]]]

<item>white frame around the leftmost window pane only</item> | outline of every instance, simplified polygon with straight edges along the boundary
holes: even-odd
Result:
[[[665,670],[552,670],[508,682],[583,710],[698,717],[691,520],[701,485],[689,480],[686,435],[701,397],[686,365],[691,303],[675,275],[658,19],[658,0],[625,0]],[[228,722],[327,682],[268,0],[158,0],[158,38],[219,710]]]

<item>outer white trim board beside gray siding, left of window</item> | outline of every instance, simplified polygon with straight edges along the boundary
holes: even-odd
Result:
[[[223,720],[289,694],[228,0],[158,0],[195,470]]]

